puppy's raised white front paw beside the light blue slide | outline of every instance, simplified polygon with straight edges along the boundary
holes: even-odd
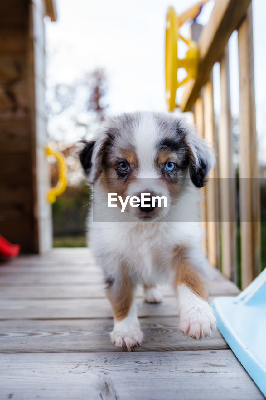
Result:
[[[191,308],[183,308],[180,312],[180,330],[194,339],[210,336],[216,328],[216,318],[209,304],[201,300],[202,304],[195,304]]]

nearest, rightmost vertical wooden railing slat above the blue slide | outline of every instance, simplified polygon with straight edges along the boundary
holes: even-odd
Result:
[[[242,287],[245,288],[260,268],[260,197],[256,145],[252,3],[238,28],[240,88],[240,228]]]

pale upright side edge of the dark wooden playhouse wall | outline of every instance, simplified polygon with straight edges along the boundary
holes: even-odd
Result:
[[[29,2],[28,31],[28,108],[31,122],[32,180],[34,191],[34,251],[44,253],[52,247],[51,206],[46,199],[50,186],[46,159],[48,137],[44,87],[44,8],[42,2]],[[37,49],[40,52],[37,52]],[[40,68],[41,67],[41,68]]]

